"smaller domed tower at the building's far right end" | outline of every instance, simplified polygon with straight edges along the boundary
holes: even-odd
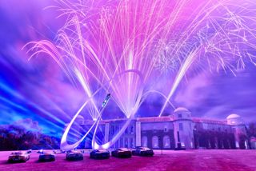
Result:
[[[237,149],[248,149],[248,141],[246,140],[246,125],[238,114],[230,114],[226,117],[226,123],[231,125],[234,133],[235,146]]]

